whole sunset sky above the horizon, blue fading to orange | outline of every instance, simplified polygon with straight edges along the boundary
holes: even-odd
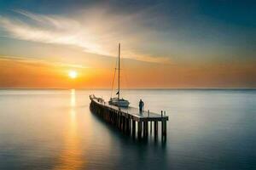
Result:
[[[112,88],[119,42],[121,88],[256,88],[255,8],[0,0],[0,88]]]

